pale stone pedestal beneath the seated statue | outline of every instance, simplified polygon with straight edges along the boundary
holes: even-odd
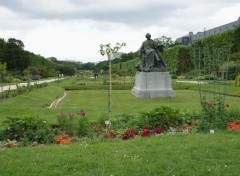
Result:
[[[136,72],[132,95],[138,98],[175,97],[169,72]]]

